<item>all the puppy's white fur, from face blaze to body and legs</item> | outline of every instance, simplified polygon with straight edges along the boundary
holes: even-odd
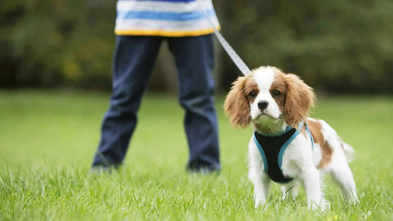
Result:
[[[279,132],[285,130],[287,125],[279,119],[281,114],[280,109],[269,93],[269,88],[274,80],[274,71],[269,67],[259,68],[253,72],[253,78],[259,87],[259,94],[250,107],[252,121],[254,124],[263,123],[265,127],[272,128],[272,131]],[[266,100],[269,103],[268,108],[263,111],[265,115],[261,115],[262,112],[257,107],[259,100]],[[312,118],[308,120],[317,122]],[[308,208],[321,208],[324,210],[329,206],[329,203],[325,200],[321,190],[320,174],[322,172],[329,172],[343,190],[345,199],[349,202],[356,203],[358,199],[356,186],[352,172],[348,166],[348,162],[353,158],[353,148],[342,142],[336,131],[325,121],[320,120],[318,122],[322,125],[322,134],[325,141],[333,149],[331,162],[323,169],[318,170],[317,166],[322,159],[320,144],[314,144],[314,151],[312,151],[310,138],[299,134],[288,145],[283,154],[281,167],[283,174],[294,177],[294,181],[282,187],[282,197],[285,199],[286,192],[289,190],[292,199],[295,200],[298,194],[298,187],[302,183],[306,192]],[[258,207],[266,202],[271,180],[263,171],[263,159],[253,139],[248,144],[248,158],[248,177],[254,184],[255,207]]]

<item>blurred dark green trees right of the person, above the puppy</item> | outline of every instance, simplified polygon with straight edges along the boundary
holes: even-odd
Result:
[[[231,3],[222,32],[250,68],[274,65],[330,92],[393,92],[393,1]],[[236,68],[224,63],[230,82]]]

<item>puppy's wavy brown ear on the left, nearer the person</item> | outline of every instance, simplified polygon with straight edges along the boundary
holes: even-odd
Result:
[[[231,90],[224,102],[224,112],[230,117],[231,126],[241,126],[243,129],[250,124],[250,104],[243,90],[246,77],[239,77],[233,82]]]

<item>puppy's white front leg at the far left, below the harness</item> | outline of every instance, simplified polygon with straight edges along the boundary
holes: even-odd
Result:
[[[248,178],[250,178],[254,184],[255,208],[258,208],[266,203],[271,180],[263,170],[261,171],[257,168],[250,168],[248,171]]]

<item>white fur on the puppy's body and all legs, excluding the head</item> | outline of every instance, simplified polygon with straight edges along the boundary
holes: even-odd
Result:
[[[356,203],[356,186],[353,180],[352,172],[348,166],[347,157],[341,144],[338,142],[339,137],[336,132],[323,121],[323,135],[325,140],[333,148],[332,160],[323,170],[318,170],[322,155],[319,144],[314,144],[312,151],[311,141],[299,134],[286,148],[283,155],[282,170],[283,174],[289,177],[295,177],[294,181],[283,184],[283,199],[286,197],[286,191],[290,188],[292,199],[296,199],[300,183],[306,191],[307,205],[309,208],[321,208],[324,210],[329,203],[324,199],[321,191],[321,172],[330,172],[340,188],[343,190],[343,196],[348,202]],[[270,178],[263,171],[263,160],[261,154],[253,139],[248,144],[249,172],[248,177],[254,184],[255,207],[263,205],[266,202]]]

